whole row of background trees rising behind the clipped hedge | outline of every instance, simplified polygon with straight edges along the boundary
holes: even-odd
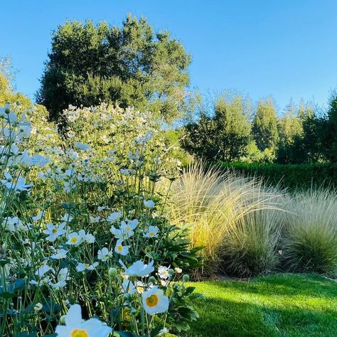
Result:
[[[223,95],[186,123],[181,144],[211,162],[335,163],[337,95],[331,95],[326,111],[291,102],[282,116],[277,116],[272,99],[252,107],[242,95]]]

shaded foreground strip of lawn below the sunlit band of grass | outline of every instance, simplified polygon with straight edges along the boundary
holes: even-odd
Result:
[[[267,306],[205,299],[196,306],[200,319],[184,337],[336,336],[337,312],[270,309]]]

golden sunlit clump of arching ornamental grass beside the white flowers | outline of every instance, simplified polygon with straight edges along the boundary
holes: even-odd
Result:
[[[206,169],[202,162],[188,166],[183,171],[181,178],[173,183],[172,216],[177,225],[189,226],[191,245],[203,247],[203,274],[219,272],[225,265],[224,258],[229,256],[236,257],[237,260],[233,260],[232,264],[242,264],[239,269],[244,270],[246,262],[242,258],[245,260],[249,256],[250,253],[246,252],[249,247],[257,247],[263,242],[267,242],[268,247],[274,247],[271,242],[275,242],[279,231],[252,226],[250,214],[256,213],[263,217],[265,213],[262,210],[277,208],[278,196],[275,191],[265,189],[257,178],[237,176],[215,167]],[[272,214],[268,215],[269,218],[274,216]],[[254,229],[255,234],[251,235]],[[271,233],[273,237],[267,240],[252,245],[248,242]],[[245,257],[242,255],[243,250]]]

